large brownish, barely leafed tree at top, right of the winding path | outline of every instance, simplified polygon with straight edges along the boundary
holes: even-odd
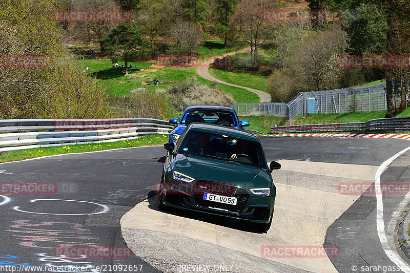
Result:
[[[251,47],[251,65],[255,67],[258,48],[269,37],[271,32],[260,12],[272,9],[275,3],[270,0],[242,0],[234,17],[234,24],[238,28],[238,38],[246,40]]]

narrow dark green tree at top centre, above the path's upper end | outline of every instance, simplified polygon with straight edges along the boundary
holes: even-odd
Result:
[[[223,33],[223,46],[227,47],[228,40],[228,29],[231,16],[235,13],[235,8],[238,5],[238,0],[217,0],[215,11],[216,11],[216,28]]]

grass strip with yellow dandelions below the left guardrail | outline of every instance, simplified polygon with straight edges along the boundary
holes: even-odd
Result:
[[[46,147],[46,148],[35,148],[19,151],[10,151],[6,152],[3,155],[0,155],[0,163],[25,160],[29,158],[35,158],[40,156],[50,156],[50,155],[59,155],[59,154],[74,154],[74,153],[84,153],[92,151],[102,151],[118,148],[131,148],[138,146],[147,146],[147,145],[159,145],[168,142],[167,135],[146,135],[141,138],[116,141],[116,142],[106,142],[106,143],[88,143],[88,144],[75,144],[70,143],[65,146],[57,147]]]

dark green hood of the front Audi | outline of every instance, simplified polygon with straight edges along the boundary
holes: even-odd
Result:
[[[176,171],[196,180],[256,188],[267,187],[271,179],[269,170],[232,161],[188,154],[177,154],[175,160]]]

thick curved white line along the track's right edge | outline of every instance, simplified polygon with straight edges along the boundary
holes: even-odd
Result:
[[[380,188],[380,176],[383,173],[384,169],[386,169],[388,165],[390,165],[395,159],[397,159],[399,156],[401,156],[408,150],[410,150],[410,146],[398,152],[391,158],[387,159],[379,166],[379,169],[377,169],[376,176],[375,176],[375,188]],[[392,262],[394,262],[397,266],[399,266],[402,271],[410,273],[408,264],[405,261],[403,261],[403,259],[401,259],[397,251],[395,251],[396,249],[388,244],[386,232],[384,231],[383,196],[381,194],[376,194],[376,199],[377,199],[377,217],[376,217],[377,235],[379,236],[380,243],[383,247],[384,253],[387,255],[387,257]],[[406,204],[409,201],[409,199],[410,198],[408,198],[408,195],[406,195],[406,198],[400,204],[401,205]]]

